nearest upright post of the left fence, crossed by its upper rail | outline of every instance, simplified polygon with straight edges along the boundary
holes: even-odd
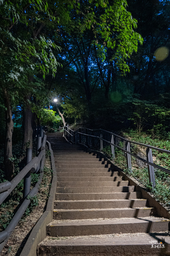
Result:
[[[32,156],[33,156],[33,149],[27,148],[26,149],[26,165],[32,160]],[[30,193],[30,187],[31,187],[31,171],[29,171],[24,178],[23,198],[26,198],[26,196]]]

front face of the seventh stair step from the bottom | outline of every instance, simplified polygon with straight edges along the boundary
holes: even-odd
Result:
[[[103,181],[103,182],[95,182],[95,181],[92,181],[92,182],[83,182],[83,181],[71,181],[71,182],[60,182],[60,181],[57,181],[57,187],[66,187],[66,188],[69,188],[69,187],[117,187],[117,186],[128,186],[128,181]]]

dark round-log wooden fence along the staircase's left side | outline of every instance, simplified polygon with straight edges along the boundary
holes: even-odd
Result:
[[[39,127],[37,131],[37,156],[32,159],[32,149],[26,151],[26,166],[12,179],[11,182],[5,181],[0,184],[0,204],[10,195],[10,193],[16,188],[22,179],[24,179],[24,189],[23,189],[23,202],[12,220],[6,227],[6,229],[0,232],[0,252],[8,241],[10,235],[14,231],[27,207],[29,206],[31,197],[37,195],[40,184],[43,177],[43,168],[45,161],[45,144],[46,135],[44,135],[43,127]],[[39,180],[35,187],[31,189],[31,173],[40,173]]]

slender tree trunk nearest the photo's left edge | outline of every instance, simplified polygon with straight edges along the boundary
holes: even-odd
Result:
[[[6,106],[6,133],[5,133],[5,148],[4,148],[4,169],[5,178],[11,181],[14,175],[14,162],[9,160],[12,158],[12,133],[14,128],[14,123],[12,120],[11,105],[9,101],[8,93],[5,89],[4,91],[4,101]]]

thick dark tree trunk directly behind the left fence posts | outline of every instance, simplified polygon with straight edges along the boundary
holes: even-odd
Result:
[[[33,131],[35,127],[35,114],[31,110],[31,95],[25,96],[26,103],[23,108],[23,151],[27,147],[33,148]]]

